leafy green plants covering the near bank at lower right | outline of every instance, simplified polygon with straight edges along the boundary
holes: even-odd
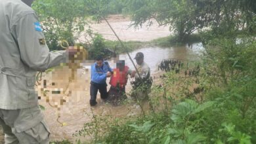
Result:
[[[256,41],[246,40],[209,41],[199,75],[165,73],[148,115],[95,116],[79,134],[93,135],[92,143],[255,143]]]

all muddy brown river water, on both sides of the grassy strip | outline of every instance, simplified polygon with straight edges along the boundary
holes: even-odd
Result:
[[[117,35],[121,37],[123,41],[150,41],[158,37],[166,37],[170,34],[168,27],[158,27],[153,25],[151,27],[142,27],[142,29],[129,28],[129,20],[113,20],[110,24],[116,29]],[[116,40],[116,37],[112,35],[112,31],[108,29],[105,23],[96,24],[93,27],[96,31],[100,31],[106,39]],[[144,53],[144,61],[148,63],[152,71],[152,75],[158,75],[158,63],[163,59],[177,58],[181,60],[196,60],[202,50],[202,44],[196,43],[192,48],[188,46],[179,46],[171,48],[159,48],[159,47],[145,47],[139,50],[131,52],[131,57],[134,58],[137,52]],[[127,54],[121,54],[120,60],[125,60],[126,65],[133,69],[133,65],[129,60]],[[71,70],[68,67],[60,67],[54,69],[51,73],[43,75],[41,84],[37,86],[39,96],[39,104],[45,107],[43,111],[45,120],[51,130],[51,140],[70,139],[75,141],[77,137],[72,135],[83,128],[85,122],[90,122],[91,118],[86,113],[91,115],[93,112],[95,115],[112,115],[113,117],[130,117],[133,115],[140,115],[141,110],[136,103],[129,103],[127,105],[113,106],[108,103],[104,103],[100,99],[98,94],[96,107],[89,105],[89,82],[91,77],[91,63],[81,63],[81,69],[75,71],[75,79],[68,82]],[[113,60],[110,60],[110,65],[115,67]],[[44,81],[45,80],[45,81]],[[109,79],[107,80],[109,81]],[[130,81],[130,79],[129,79]],[[126,90],[131,90],[130,82],[127,82]],[[43,82],[47,85],[43,87]],[[109,84],[108,84],[109,89]],[[43,90],[47,90],[45,95]],[[49,104],[47,102],[49,99]],[[63,100],[64,99],[64,100]],[[63,101],[66,101],[63,103]],[[148,109],[145,106],[145,109]],[[58,118],[58,116],[60,118]],[[65,126],[61,126],[59,122],[65,123]],[[0,135],[1,136],[1,135]],[[0,138],[1,139],[1,138]],[[89,139],[89,137],[85,137]],[[0,140],[1,141],[1,140]]]

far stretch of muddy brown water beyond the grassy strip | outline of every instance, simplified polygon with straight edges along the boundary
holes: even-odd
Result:
[[[152,21],[152,26],[143,24],[142,27],[131,26],[132,22],[127,17],[120,15],[113,15],[108,18],[108,22],[118,35],[121,41],[151,41],[160,37],[167,37],[171,35],[169,26],[158,26],[156,21]],[[87,27],[85,27],[87,29]],[[103,35],[104,39],[117,41],[117,37],[112,32],[112,29],[108,26],[105,21],[99,24],[93,24],[91,27],[93,31]],[[81,33],[80,41],[85,41],[85,33]],[[87,37],[89,39],[89,37]]]

